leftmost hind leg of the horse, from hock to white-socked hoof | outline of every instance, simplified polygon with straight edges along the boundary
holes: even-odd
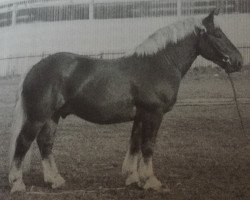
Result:
[[[25,120],[20,126],[14,147],[14,155],[11,161],[9,182],[12,185],[11,192],[24,191],[25,185],[22,180],[22,162],[31,143],[39,133],[43,122]]]

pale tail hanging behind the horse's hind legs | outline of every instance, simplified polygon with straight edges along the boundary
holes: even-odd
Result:
[[[9,166],[11,166],[12,160],[14,158],[16,150],[16,140],[21,133],[24,123],[26,122],[26,113],[23,107],[23,97],[22,97],[23,80],[21,81],[16,95],[16,104],[13,111],[13,119],[11,125],[11,139],[10,139],[10,149],[9,149]],[[24,170],[28,171],[30,169],[30,158],[31,152],[28,151],[24,161]]]

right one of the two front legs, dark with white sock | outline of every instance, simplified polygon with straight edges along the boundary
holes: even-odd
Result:
[[[163,189],[161,182],[154,175],[152,162],[155,140],[162,122],[162,118],[163,112],[158,109],[154,111],[143,110],[141,114],[142,158],[139,162],[138,173],[140,178],[140,186],[146,190],[153,189],[156,191],[161,191]]]

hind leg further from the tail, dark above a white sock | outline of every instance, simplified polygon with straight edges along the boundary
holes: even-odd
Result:
[[[65,180],[58,172],[52,153],[58,120],[58,116],[48,120],[37,137],[37,144],[42,156],[44,181],[52,184],[52,188],[58,188],[65,183]]]

